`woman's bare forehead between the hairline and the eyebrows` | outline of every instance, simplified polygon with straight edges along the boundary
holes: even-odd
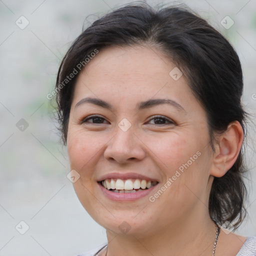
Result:
[[[85,96],[96,96],[113,105],[135,106],[149,98],[171,98],[189,107],[195,100],[193,93],[183,75],[173,79],[173,69],[176,65],[151,46],[100,49],[79,73],[72,106]]]

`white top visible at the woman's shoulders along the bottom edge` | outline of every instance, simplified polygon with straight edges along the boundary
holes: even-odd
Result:
[[[92,250],[81,253],[77,256],[95,256],[107,244],[102,244]],[[248,236],[236,256],[256,256],[256,236]]]

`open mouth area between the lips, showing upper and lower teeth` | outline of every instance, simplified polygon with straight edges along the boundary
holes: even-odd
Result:
[[[100,181],[100,184],[109,191],[115,193],[135,193],[144,191],[154,185],[157,181],[150,181],[145,179],[119,179],[107,178]]]

